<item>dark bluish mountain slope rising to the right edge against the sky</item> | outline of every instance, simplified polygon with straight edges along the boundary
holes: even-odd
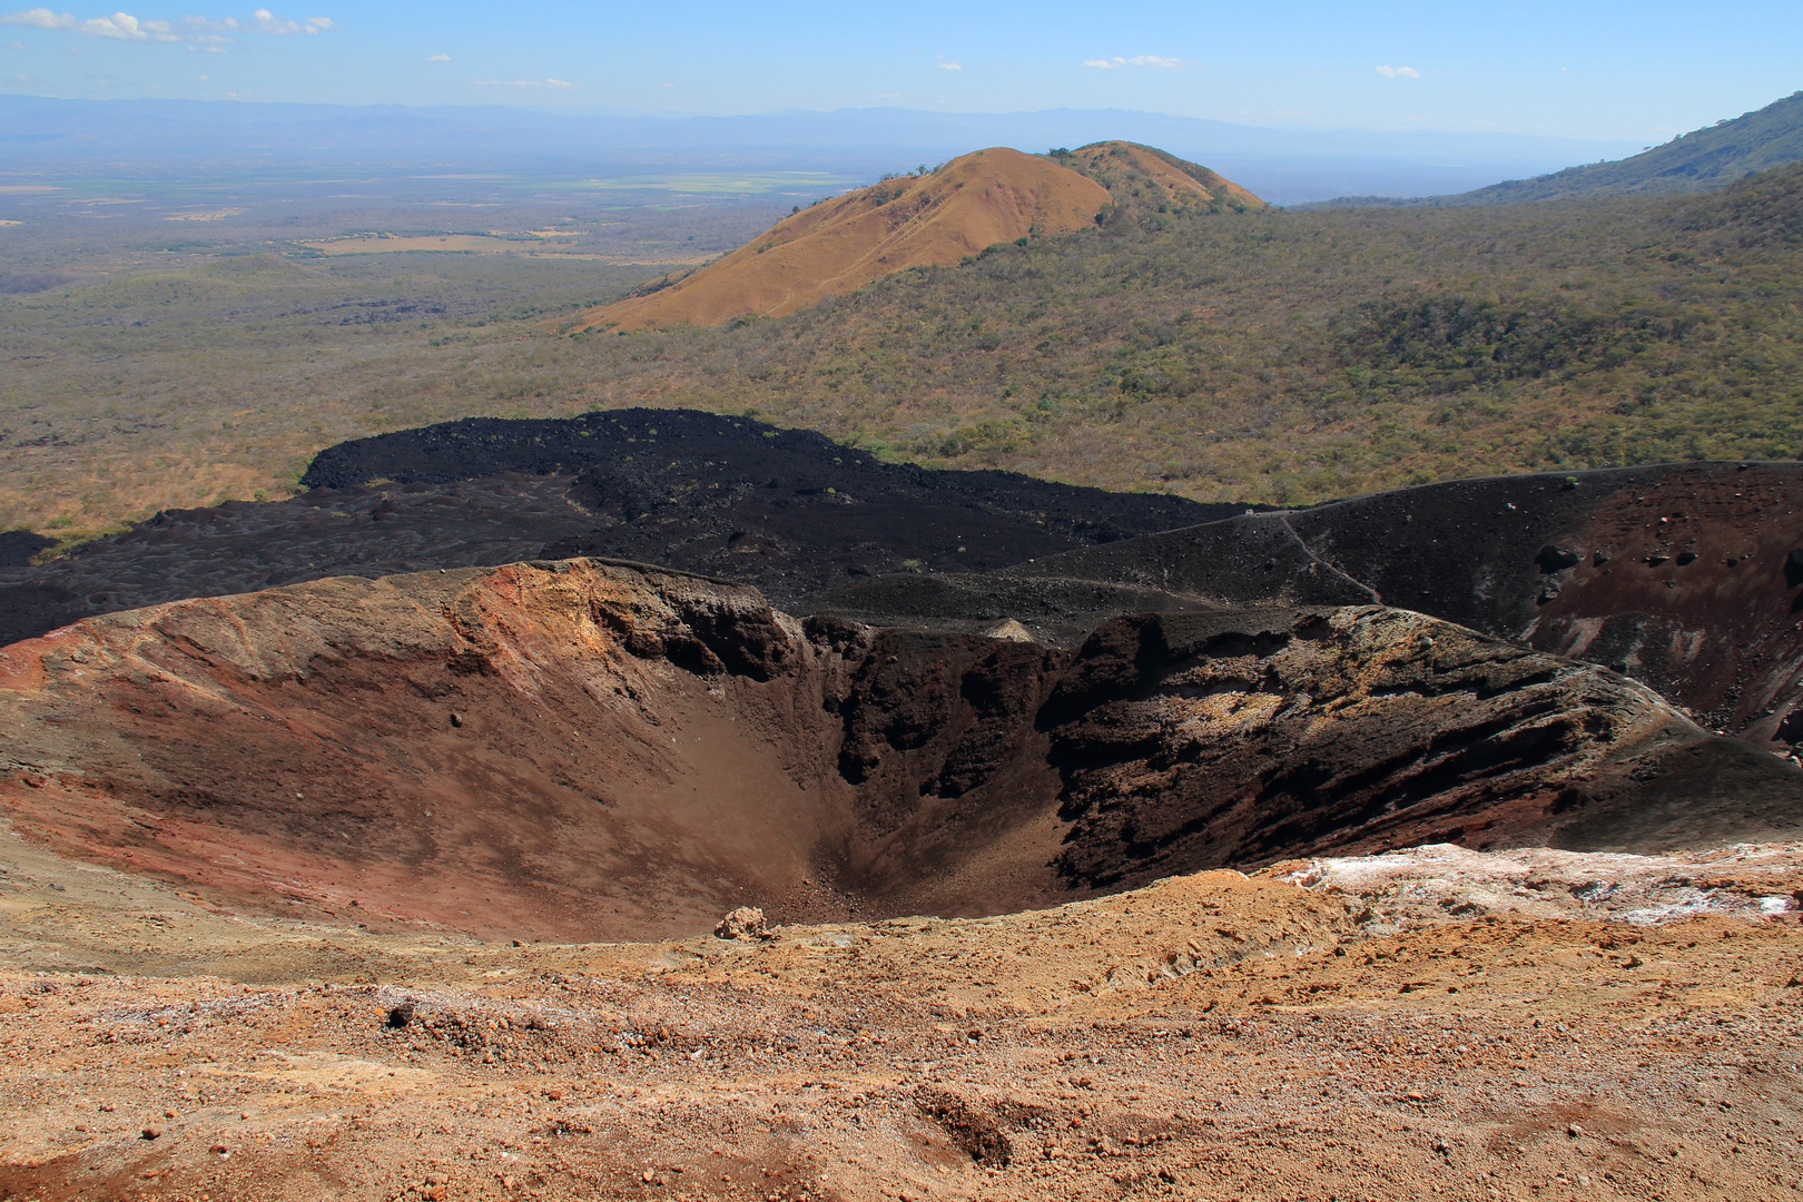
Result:
[[[1628,196],[1688,193],[1722,187],[1769,168],[1803,162],[1803,92],[1733,121],[1691,130],[1664,146],[1630,159],[1565,168],[1527,180],[1507,180],[1453,196],[1390,198],[1341,196],[1323,202],[1350,205],[1513,204],[1565,196]]]

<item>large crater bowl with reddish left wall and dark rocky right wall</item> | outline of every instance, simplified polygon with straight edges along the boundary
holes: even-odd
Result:
[[[335,578],[0,649],[0,804],[229,905],[487,937],[997,914],[1423,842],[1794,833],[1803,773],[1433,618],[1248,607],[1080,647],[799,622],[563,560]]]

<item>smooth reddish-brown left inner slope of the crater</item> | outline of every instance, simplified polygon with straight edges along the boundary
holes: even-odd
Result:
[[[793,679],[728,699],[664,660],[710,658],[660,642],[667,606],[606,571],[572,604],[568,578],[325,580],[16,643],[7,688],[99,660],[92,634],[117,654],[76,751],[105,791],[27,777],[22,825],[240,901],[487,937],[692,930],[804,897],[829,818],[808,786],[831,764]],[[768,618],[750,589],[709,593]]]

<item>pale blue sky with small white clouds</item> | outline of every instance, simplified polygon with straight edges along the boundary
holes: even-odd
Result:
[[[128,2],[0,0],[0,90],[721,115],[1138,108],[1653,142],[1803,88],[1798,0]]]

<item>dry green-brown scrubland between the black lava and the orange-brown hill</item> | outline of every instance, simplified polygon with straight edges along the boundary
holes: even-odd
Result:
[[[1803,449],[1799,168],[1677,198],[1120,205],[783,319],[577,337],[669,267],[22,229],[0,231],[0,526],[63,537],[283,496],[344,438],[636,404],[1203,501]]]

